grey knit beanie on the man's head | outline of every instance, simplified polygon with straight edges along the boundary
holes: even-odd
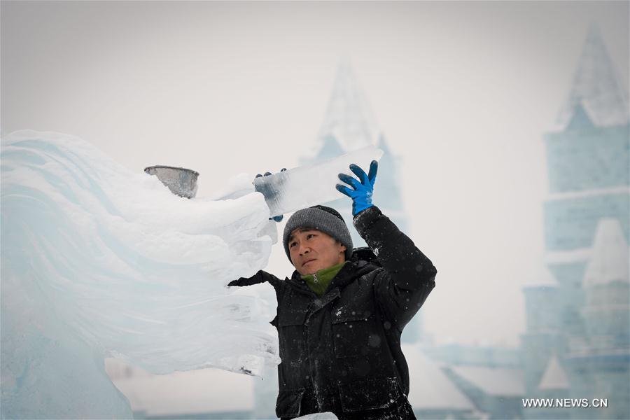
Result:
[[[284,233],[282,235],[284,251],[289,261],[291,260],[291,256],[288,251],[288,239],[291,232],[297,228],[321,230],[337,239],[342,245],[346,246],[346,260],[350,260],[352,255],[352,237],[350,236],[350,231],[346,226],[344,218],[342,218],[342,215],[339,214],[337,210],[325,206],[313,206],[308,209],[298,210],[289,218],[284,226]]]

